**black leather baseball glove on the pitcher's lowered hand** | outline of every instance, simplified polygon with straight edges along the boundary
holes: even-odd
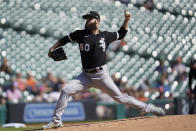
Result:
[[[62,47],[55,49],[54,51],[50,52],[51,55],[50,57],[54,60],[54,61],[62,61],[67,59],[67,56],[63,50]]]

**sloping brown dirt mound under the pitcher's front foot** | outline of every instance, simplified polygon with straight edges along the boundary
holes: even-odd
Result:
[[[48,131],[196,131],[196,115],[138,117],[106,122],[73,124]]]

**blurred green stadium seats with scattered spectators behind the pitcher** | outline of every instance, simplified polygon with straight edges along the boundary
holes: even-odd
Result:
[[[101,30],[117,31],[125,9],[132,16],[130,30],[107,52],[113,80],[124,93],[167,114],[186,114],[189,63],[196,59],[194,0],[0,0],[0,123],[24,122],[10,115],[13,109],[57,101],[62,86],[81,72],[76,43],[65,46],[66,61],[54,62],[47,54],[59,38],[84,28],[83,14],[96,10]],[[93,105],[95,117],[88,120],[141,115],[94,88],[70,101]]]

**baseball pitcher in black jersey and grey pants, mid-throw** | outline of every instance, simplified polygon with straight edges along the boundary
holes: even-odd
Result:
[[[125,19],[123,25],[117,32],[101,31],[100,15],[96,11],[90,11],[83,18],[86,20],[85,29],[76,30],[66,35],[49,49],[49,57],[54,60],[62,60],[61,58],[56,58],[55,50],[68,42],[77,42],[79,44],[83,71],[79,76],[69,81],[61,90],[52,121],[44,125],[43,129],[62,127],[61,115],[67,106],[69,97],[90,87],[103,90],[116,102],[137,108],[142,112],[153,113],[159,116],[165,115],[165,111],[160,107],[146,104],[132,96],[123,95],[108,72],[106,50],[110,43],[125,37],[131,18],[130,13],[128,11],[124,12]],[[66,58],[65,55],[63,58]]]

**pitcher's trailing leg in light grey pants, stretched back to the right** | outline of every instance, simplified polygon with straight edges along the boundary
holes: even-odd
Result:
[[[133,96],[123,95],[120,89],[116,86],[111,77],[108,75],[107,70],[105,72],[103,71],[102,76],[105,76],[105,78],[101,78],[101,75],[100,79],[92,78],[94,79],[95,87],[106,92],[118,103],[126,104],[145,113],[153,113],[160,116],[165,115],[165,111],[162,108],[156,107],[152,104],[146,104],[142,101],[137,100]]]

